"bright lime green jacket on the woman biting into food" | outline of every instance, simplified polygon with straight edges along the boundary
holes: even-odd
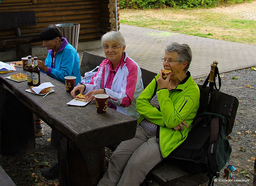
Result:
[[[149,103],[154,94],[158,78],[159,74],[137,98],[136,109],[141,114],[138,125],[145,118],[158,125],[157,141],[163,158],[166,158],[187,138],[191,123],[199,107],[200,91],[188,71],[187,77],[175,89],[170,91],[168,89],[158,90],[159,87],[157,87],[160,106],[160,110],[158,110]],[[182,121],[185,121],[189,127],[184,127],[182,132],[175,131],[173,127]]]

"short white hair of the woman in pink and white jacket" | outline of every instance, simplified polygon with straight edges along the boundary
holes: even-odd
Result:
[[[107,41],[115,41],[115,42],[119,43],[119,45],[121,45],[122,48],[124,46],[126,46],[125,39],[123,38],[123,36],[120,32],[110,31],[110,32],[105,33],[101,37],[101,46],[104,46],[104,43]]]

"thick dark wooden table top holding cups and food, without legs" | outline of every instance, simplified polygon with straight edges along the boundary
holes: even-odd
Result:
[[[45,98],[43,95],[26,92],[30,86],[27,81],[15,82],[4,77],[11,74],[27,72],[16,67],[17,71],[0,74],[0,85],[18,98],[33,113],[36,113],[51,128],[57,129],[68,140],[82,149],[106,146],[133,138],[137,120],[116,110],[107,109],[107,113],[98,114],[96,104],[86,106],[69,106],[73,98],[66,92],[65,85],[41,73],[41,83],[51,82],[54,91]]]

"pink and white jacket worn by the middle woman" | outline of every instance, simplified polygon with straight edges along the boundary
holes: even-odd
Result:
[[[115,75],[111,76],[111,71],[114,71]],[[103,60],[99,65],[98,72],[85,86],[84,94],[93,89],[105,88],[105,92],[109,96],[108,107],[133,118],[139,118],[136,100],[144,89],[142,73],[137,62],[129,58],[125,52],[123,52],[123,57],[114,70],[110,60]]]

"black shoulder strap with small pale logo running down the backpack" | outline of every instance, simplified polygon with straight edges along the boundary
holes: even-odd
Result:
[[[210,135],[210,141],[209,141],[209,147],[208,147],[208,161],[209,161],[209,184],[208,186],[214,184],[212,181],[213,177],[216,176],[218,178],[220,176],[220,172],[218,170],[218,164],[216,161],[216,152],[217,152],[217,143],[218,143],[218,135],[219,135],[219,116],[213,116],[211,120],[211,135]],[[212,183],[211,183],[211,182]]]

